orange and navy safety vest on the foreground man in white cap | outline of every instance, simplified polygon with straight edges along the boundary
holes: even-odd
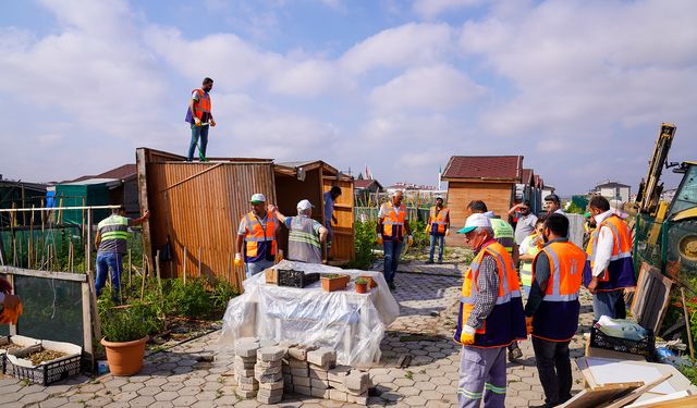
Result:
[[[493,256],[499,273],[499,294],[491,313],[486,318],[481,329],[475,334],[474,347],[504,347],[515,339],[525,339],[525,314],[521,298],[521,285],[515,273],[513,258],[503,245],[492,240],[486,245],[469,264],[462,284],[460,300],[460,318],[455,330],[454,341],[461,343],[462,330],[475,308],[477,300],[477,277],[484,256]]]

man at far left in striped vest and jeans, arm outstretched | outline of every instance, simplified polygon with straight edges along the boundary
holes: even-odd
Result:
[[[150,218],[150,212],[146,211],[139,219],[132,220],[126,215],[123,206],[111,210],[111,215],[101,220],[97,224],[97,237],[95,247],[97,248],[97,279],[95,288],[97,297],[107,284],[107,274],[111,269],[111,287],[113,297],[118,298],[121,287],[121,272],[123,271],[123,256],[129,246],[129,227],[140,225]]]

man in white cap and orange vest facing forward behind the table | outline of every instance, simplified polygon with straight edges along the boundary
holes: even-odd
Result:
[[[247,277],[273,265],[277,251],[276,235],[279,228],[276,215],[267,211],[266,197],[262,194],[253,195],[249,202],[252,211],[240,221],[235,246],[235,265],[242,267],[244,262]]]

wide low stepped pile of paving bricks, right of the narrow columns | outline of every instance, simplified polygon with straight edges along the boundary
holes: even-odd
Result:
[[[286,392],[360,405],[368,401],[368,373],[337,366],[337,351],[331,348],[290,347],[283,379]]]

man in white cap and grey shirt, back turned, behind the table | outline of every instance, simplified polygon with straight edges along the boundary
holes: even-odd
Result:
[[[269,206],[276,218],[289,228],[288,259],[307,263],[322,263],[322,244],[327,242],[327,227],[313,220],[313,206],[308,200],[297,203],[297,217],[285,217]]]

